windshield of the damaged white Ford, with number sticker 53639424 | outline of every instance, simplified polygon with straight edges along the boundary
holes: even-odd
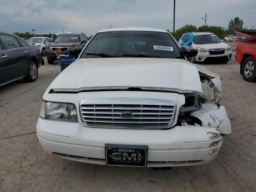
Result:
[[[113,31],[96,34],[80,58],[181,58],[175,40],[164,32]]]

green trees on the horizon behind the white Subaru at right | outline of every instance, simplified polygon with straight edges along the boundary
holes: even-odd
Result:
[[[234,30],[256,32],[256,30],[252,30],[252,29],[248,30],[243,28],[243,24],[244,24],[243,20],[241,20],[239,17],[235,17],[234,20],[232,19],[228,23],[228,28],[224,28],[222,26],[206,25],[205,31],[216,34],[220,39],[224,39],[224,37],[228,35],[235,35]],[[167,31],[170,32],[169,29],[167,29]],[[176,40],[179,40],[185,32],[204,32],[204,25],[197,28],[195,25],[186,24],[175,31],[174,37],[176,38]],[[170,33],[173,35],[172,32]]]

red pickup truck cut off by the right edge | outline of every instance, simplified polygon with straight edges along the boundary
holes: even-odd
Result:
[[[236,45],[236,62],[240,64],[240,74],[244,80],[256,82],[256,32],[234,30],[249,40],[238,41]]]

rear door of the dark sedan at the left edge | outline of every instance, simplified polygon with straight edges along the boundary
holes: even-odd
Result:
[[[28,72],[29,54],[27,44],[19,43],[18,40],[11,35],[0,35],[3,44],[8,51],[8,60],[11,65],[11,78],[26,76]]]

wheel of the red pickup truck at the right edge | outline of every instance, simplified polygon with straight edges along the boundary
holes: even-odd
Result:
[[[242,66],[242,75],[244,80],[248,82],[256,81],[256,61],[252,56],[244,60]]]

